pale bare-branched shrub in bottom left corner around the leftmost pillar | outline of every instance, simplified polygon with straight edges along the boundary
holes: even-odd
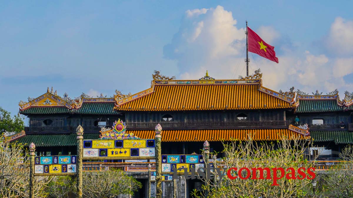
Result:
[[[29,156],[22,144],[0,138],[0,197],[29,197]],[[34,177],[35,197],[46,197],[48,177]]]

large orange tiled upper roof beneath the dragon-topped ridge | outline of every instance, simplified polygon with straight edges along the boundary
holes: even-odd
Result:
[[[123,111],[277,109],[293,105],[253,85],[155,85],[154,92],[117,107]]]

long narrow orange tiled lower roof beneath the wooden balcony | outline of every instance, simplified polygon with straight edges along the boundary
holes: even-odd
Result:
[[[141,139],[154,139],[154,130],[131,130],[135,136]],[[274,141],[281,140],[281,136],[292,138],[299,134],[288,129],[222,129],[222,130],[163,130],[163,142],[201,142],[201,141],[229,141],[231,139],[246,140],[251,134],[256,141]],[[301,136],[303,139],[304,136]]]

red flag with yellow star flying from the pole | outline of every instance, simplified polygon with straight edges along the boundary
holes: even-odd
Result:
[[[276,57],[275,47],[265,43],[257,33],[252,31],[250,27],[247,27],[248,36],[248,49],[250,52],[258,54],[268,60],[278,63],[278,58]]]

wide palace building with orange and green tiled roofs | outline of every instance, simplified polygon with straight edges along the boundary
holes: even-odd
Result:
[[[136,94],[116,90],[114,98],[71,99],[48,88],[43,95],[19,103],[29,126],[6,138],[34,142],[37,155],[75,155],[78,125],[84,128],[84,139],[98,139],[102,129],[120,119],[127,134],[141,139],[154,139],[154,128],[161,124],[162,154],[201,154],[206,140],[211,151],[222,151],[222,140],[245,140],[249,134],[262,142],[300,136],[331,150],[323,156],[326,159],[338,157],[341,148],[353,143],[349,94],[340,100],[338,91],[307,95],[293,87],[276,92],[262,85],[260,70],[229,80],[208,73],[198,80],[175,80],[157,71],[152,76],[150,88]]]

